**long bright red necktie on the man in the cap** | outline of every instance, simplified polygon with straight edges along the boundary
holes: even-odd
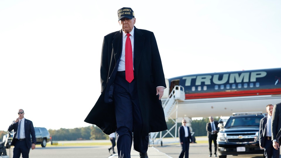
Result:
[[[131,83],[134,79],[133,51],[129,33],[127,33],[127,39],[125,44],[125,77],[128,83]]]

